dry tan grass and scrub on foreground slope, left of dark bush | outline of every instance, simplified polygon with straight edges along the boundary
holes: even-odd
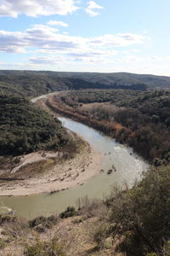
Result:
[[[1,236],[8,242],[0,250],[0,255],[24,256],[26,248],[37,246],[37,241],[50,245],[51,241],[56,240],[57,244],[62,245],[62,250],[67,256],[111,256],[112,240],[107,237],[105,205],[102,201],[90,201],[87,197],[78,203],[82,208],[80,215],[59,219],[51,229],[39,233],[35,229],[31,230],[26,220],[3,224]]]

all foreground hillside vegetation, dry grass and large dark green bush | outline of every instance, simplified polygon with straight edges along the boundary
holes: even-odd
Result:
[[[12,241],[20,243],[28,256],[76,256],[81,255],[81,236],[85,244],[91,241],[93,248],[90,251],[87,247],[83,255],[169,256],[169,172],[170,166],[153,167],[133,189],[115,187],[104,201],[85,197],[77,202],[78,210],[68,207],[60,220],[51,216],[29,221],[31,230],[16,218],[14,224],[7,221],[1,224],[5,235],[1,249]],[[38,229],[40,226],[45,229]]]

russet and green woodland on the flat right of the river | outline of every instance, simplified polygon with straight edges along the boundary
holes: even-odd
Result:
[[[170,92],[83,90],[54,101],[60,112],[131,146],[154,165],[170,161]]]

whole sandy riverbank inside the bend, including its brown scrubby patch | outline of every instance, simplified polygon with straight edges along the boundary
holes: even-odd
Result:
[[[65,158],[62,152],[27,154],[21,158],[19,166],[10,170],[13,178],[1,181],[0,195],[31,195],[42,192],[53,194],[75,185],[82,186],[88,178],[99,172],[100,160],[99,152],[86,142],[73,158]],[[37,166],[40,166],[41,170],[47,166],[47,170],[38,173]],[[26,172],[25,169],[31,172]],[[24,172],[27,174],[26,177]]]

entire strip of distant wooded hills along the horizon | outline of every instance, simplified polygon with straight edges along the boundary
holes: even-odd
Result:
[[[170,89],[170,77],[133,73],[67,73],[0,70],[0,92],[39,96],[55,90]]]

